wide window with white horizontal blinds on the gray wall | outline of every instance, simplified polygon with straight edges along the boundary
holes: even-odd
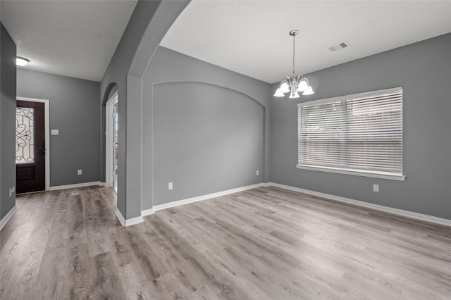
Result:
[[[401,87],[297,106],[297,168],[405,179]]]

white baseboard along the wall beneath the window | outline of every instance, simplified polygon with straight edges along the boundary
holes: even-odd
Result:
[[[340,201],[340,202],[344,202],[347,204],[354,204],[354,205],[362,206],[365,208],[372,208],[372,209],[376,209],[377,211],[385,211],[386,213],[393,213],[395,215],[401,215],[401,216],[407,217],[407,218],[413,218],[416,220],[423,220],[423,221],[428,221],[428,222],[435,223],[435,224],[451,226],[451,220],[448,220],[445,218],[434,217],[433,215],[424,215],[423,213],[414,213],[413,211],[404,211],[403,209],[399,209],[399,208],[392,208],[392,207],[382,206],[382,205],[378,205],[378,204],[371,204],[369,202],[349,199],[349,198],[335,196],[335,195],[331,195],[331,194],[325,194],[325,193],[321,193],[321,192],[315,192],[315,191],[311,191],[309,189],[301,189],[299,187],[291,187],[289,185],[280,185],[280,184],[274,183],[274,182],[269,182],[268,184],[265,184],[265,186],[266,187],[268,187],[268,186],[280,187],[281,189],[289,189],[290,191],[294,191],[294,192],[311,194],[313,196],[319,196],[322,198]]]

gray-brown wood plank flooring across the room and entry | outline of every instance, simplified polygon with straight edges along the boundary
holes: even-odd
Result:
[[[121,227],[104,187],[26,194],[0,299],[451,299],[451,227],[262,187]]]

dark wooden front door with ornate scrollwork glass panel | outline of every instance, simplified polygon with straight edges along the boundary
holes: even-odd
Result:
[[[17,193],[45,189],[44,103],[17,101],[16,187]]]

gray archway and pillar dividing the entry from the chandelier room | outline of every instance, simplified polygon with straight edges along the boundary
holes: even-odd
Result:
[[[111,87],[118,86],[118,210],[125,219],[140,216],[142,209],[142,77],[161,39],[189,2],[138,1],[101,80],[102,104]],[[104,141],[101,149],[104,173]]]

